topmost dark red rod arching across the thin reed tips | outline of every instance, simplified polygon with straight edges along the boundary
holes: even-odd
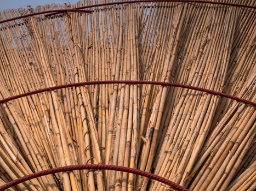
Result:
[[[219,5],[229,5],[232,7],[243,7],[243,8],[249,8],[249,9],[256,9],[255,6],[250,6],[250,5],[243,5],[243,4],[236,4],[236,3],[225,3],[225,2],[212,2],[212,1],[198,1],[198,0],[139,0],[139,1],[123,1],[123,2],[112,2],[112,3],[103,3],[103,4],[95,4],[95,5],[88,5],[88,6],[84,6],[84,7],[78,7],[78,8],[74,8],[74,9],[56,9],[56,10],[48,10],[48,11],[42,11],[42,12],[38,12],[38,13],[32,13],[32,14],[27,14],[27,15],[22,15],[22,16],[18,16],[18,17],[13,17],[11,19],[7,19],[7,20],[3,20],[0,21],[1,23],[4,22],[8,22],[8,21],[14,21],[17,19],[22,19],[25,17],[29,17],[29,16],[35,16],[35,15],[41,15],[41,14],[47,14],[47,13],[54,13],[54,14],[58,14],[58,13],[65,13],[68,11],[77,11],[79,9],[87,9],[87,8],[93,8],[93,7],[103,7],[103,6],[107,6],[107,5],[118,5],[118,4],[128,4],[128,3],[153,3],[153,2],[185,2],[185,3],[204,3],[204,4],[219,4]],[[58,13],[56,13],[58,12]],[[91,11],[88,10],[88,13],[90,13]],[[50,15],[54,15],[54,14],[49,14],[47,16]]]

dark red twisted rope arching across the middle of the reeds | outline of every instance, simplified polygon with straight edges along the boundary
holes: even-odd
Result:
[[[112,84],[112,83],[149,84],[149,85],[162,85],[162,86],[173,86],[173,87],[181,87],[181,88],[187,88],[187,89],[194,89],[196,91],[210,93],[210,94],[213,94],[215,96],[221,96],[221,97],[225,97],[225,98],[234,99],[237,102],[242,102],[242,103],[245,103],[245,104],[249,104],[249,105],[252,105],[254,107],[256,106],[256,103],[255,102],[251,102],[250,100],[243,99],[243,98],[238,98],[236,96],[231,96],[231,95],[226,94],[226,93],[221,93],[221,92],[213,91],[211,89],[205,89],[205,88],[201,88],[201,87],[183,85],[181,83],[156,82],[156,81],[139,81],[139,80],[138,81],[134,81],[134,80],[120,80],[120,81],[108,80],[108,81],[88,81],[88,82],[70,83],[70,84],[67,84],[67,85],[60,85],[60,86],[54,86],[54,87],[47,87],[47,88],[37,89],[35,91],[26,92],[26,93],[22,93],[22,94],[19,94],[19,95],[16,95],[16,96],[5,98],[5,99],[0,100],[0,104],[5,103],[5,102],[9,102],[10,100],[14,100],[14,99],[18,99],[18,98],[22,98],[22,97],[26,97],[26,96],[31,96],[31,95],[37,94],[37,93],[53,91],[55,89],[61,89],[61,88],[67,88],[67,87],[77,87],[77,86],[88,86],[88,85]]]

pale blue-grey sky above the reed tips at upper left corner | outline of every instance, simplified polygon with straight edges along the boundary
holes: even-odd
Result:
[[[17,9],[26,8],[27,5],[31,5],[35,8],[37,5],[50,4],[50,3],[69,3],[74,4],[78,0],[0,0],[0,9]]]

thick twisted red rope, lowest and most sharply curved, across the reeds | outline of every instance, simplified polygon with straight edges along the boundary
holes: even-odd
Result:
[[[167,184],[168,186],[177,189],[178,191],[188,191],[188,189],[181,187],[179,184],[172,182],[166,178],[154,175],[150,172],[145,172],[138,169],[132,169],[124,166],[114,166],[114,165],[106,165],[106,164],[80,164],[80,165],[71,165],[71,166],[62,166],[54,169],[48,169],[43,170],[39,172],[35,172],[30,175],[23,176],[21,178],[18,178],[16,180],[10,181],[3,186],[0,187],[0,191],[4,189],[8,189],[10,187],[13,187],[19,183],[31,180],[33,178],[53,174],[56,172],[66,172],[66,171],[72,171],[72,170],[84,170],[84,169],[96,169],[96,170],[116,170],[116,171],[122,171],[122,172],[128,172],[135,175],[145,176],[147,178],[162,182],[164,184]]]

